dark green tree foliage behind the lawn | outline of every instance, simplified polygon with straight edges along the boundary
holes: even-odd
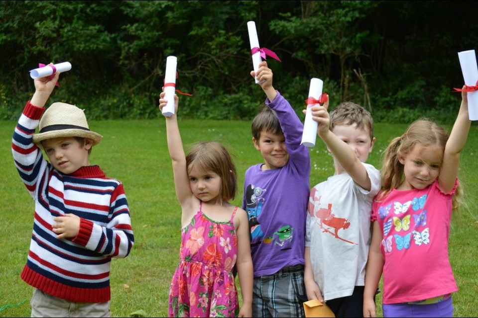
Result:
[[[251,119],[247,21],[256,23],[273,85],[298,113],[311,78],[331,107],[352,100],[376,121],[454,120],[458,52],[474,50],[477,10],[465,1],[0,1],[0,119],[33,91],[29,70],[69,61],[52,100],[90,119],[153,118],[166,58],[178,58],[181,117]],[[159,114],[160,115],[160,114]]]

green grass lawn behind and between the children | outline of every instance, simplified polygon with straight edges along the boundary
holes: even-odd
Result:
[[[0,195],[4,200],[0,213],[0,317],[29,317],[32,293],[20,273],[26,262],[34,204],[13,165],[10,146],[15,124],[0,121]],[[179,125],[185,148],[195,141],[212,140],[228,147],[239,174],[239,193],[233,203],[240,206],[244,172],[249,165],[262,161],[252,146],[250,122],[184,120]],[[406,126],[376,124],[377,142],[368,162],[379,168],[389,140]],[[174,192],[164,118],[90,122],[90,128],[104,136],[94,147],[90,161],[123,182],[135,237],[130,255],[112,262],[112,317],[131,317],[140,310],[147,317],[167,317],[169,284],[179,261],[181,212]],[[468,209],[454,217],[450,234],[450,259],[460,289],[454,295],[455,317],[478,316],[477,142],[478,127],[474,125],[460,169]],[[334,168],[319,138],[310,151],[313,186],[333,174]],[[381,304],[381,295],[377,304]]]

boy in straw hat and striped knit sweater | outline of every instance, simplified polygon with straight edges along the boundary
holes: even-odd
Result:
[[[83,110],[53,103],[45,111],[58,76],[34,80],[12,139],[15,166],[35,201],[21,278],[35,288],[31,317],[110,317],[111,258],[126,257],[134,242],[129,208],[121,182],[90,165],[102,136]]]

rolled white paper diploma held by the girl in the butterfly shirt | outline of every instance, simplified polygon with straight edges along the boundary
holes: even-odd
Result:
[[[475,50],[458,52],[460,66],[462,67],[463,79],[468,86],[477,85],[478,67]],[[468,116],[470,120],[478,120],[478,91],[467,92]]]

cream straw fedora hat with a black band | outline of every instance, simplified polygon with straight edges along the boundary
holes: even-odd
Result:
[[[40,119],[39,132],[33,142],[42,148],[41,141],[58,137],[85,137],[100,143],[102,135],[90,130],[83,109],[67,103],[53,103]]]

